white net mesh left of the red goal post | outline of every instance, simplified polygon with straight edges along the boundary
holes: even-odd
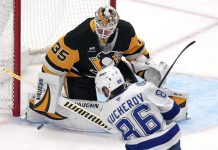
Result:
[[[0,3],[0,66],[13,70],[13,0]],[[13,78],[0,70],[0,113],[13,107]]]

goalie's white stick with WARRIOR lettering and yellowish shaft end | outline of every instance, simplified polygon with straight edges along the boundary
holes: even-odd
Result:
[[[10,75],[11,77],[17,79],[17,80],[22,80],[27,82],[30,86],[36,88],[35,84],[17,74],[15,74],[14,72],[10,71],[9,69],[0,66],[0,68],[8,75]],[[67,98],[64,97],[60,97],[61,100],[58,101],[58,105],[61,106],[62,108],[77,114],[79,116],[81,116],[82,118],[86,119],[87,121],[89,121],[90,123],[98,126],[99,128],[105,130],[106,132],[109,133],[113,133],[112,132],[112,128],[108,125],[107,122],[105,122],[104,120],[102,120],[98,115],[90,112],[89,110],[79,106],[78,104],[76,104],[75,102],[68,100]],[[37,129],[41,129],[44,126],[44,124],[40,124]]]

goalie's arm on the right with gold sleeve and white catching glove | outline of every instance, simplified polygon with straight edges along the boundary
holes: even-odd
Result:
[[[143,40],[139,39],[134,28],[129,23],[127,25],[130,37],[128,49],[124,50],[123,55],[131,63],[133,71],[143,79],[158,85],[168,70],[165,62],[155,62],[149,56]],[[125,42],[125,41],[124,41]]]

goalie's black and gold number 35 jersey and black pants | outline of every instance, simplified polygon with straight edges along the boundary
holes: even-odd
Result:
[[[69,98],[96,100],[94,78],[108,65],[143,54],[149,57],[144,42],[137,38],[129,22],[119,20],[117,29],[108,39],[109,50],[98,43],[94,18],[88,18],[74,30],[61,37],[48,51],[42,71],[65,75],[65,91]]]

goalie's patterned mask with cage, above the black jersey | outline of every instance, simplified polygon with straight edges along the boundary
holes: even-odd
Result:
[[[95,32],[102,40],[107,40],[116,30],[119,15],[111,6],[100,7],[95,12]]]

